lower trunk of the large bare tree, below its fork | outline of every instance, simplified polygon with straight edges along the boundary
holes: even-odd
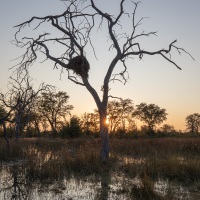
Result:
[[[106,124],[106,112],[100,112],[100,136],[102,142],[101,159],[106,161],[109,158],[108,125]]]

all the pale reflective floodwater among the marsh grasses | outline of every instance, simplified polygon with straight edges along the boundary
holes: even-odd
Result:
[[[38,151],[38,156],[40,152]],[[43,162],[48,162],[48,152]],[[180,158],[183,162],[184,159]],[[2,163],[0,166],[0,200],[129,200],[137,199],[132,188],[141,188],[139,176],[126,177],[122,172],[106,171],[101,176],[63,176],[58,179],[34,180],[29,177],[26,163],[19,160]],[[141,164],[145,158],[121,157],[120,162]],[[177,183],[159,179],[153,183],[153,190],[162,199],[173,194],[173,199],[198,200],[200,193]]]

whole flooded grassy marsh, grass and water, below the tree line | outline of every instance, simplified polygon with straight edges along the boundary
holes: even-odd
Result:
[[[0,199],[199,199],[200,139],[21,139],[0,145]]]

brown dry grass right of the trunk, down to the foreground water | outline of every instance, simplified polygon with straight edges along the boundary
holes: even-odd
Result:
[[[131,158],[119,168],[130,178],[147,175],[152,180],[175,181],[184,186],[200,181],[199,138],[113,140],[111,149]],[[138,158],[142,162],[137,162]]]

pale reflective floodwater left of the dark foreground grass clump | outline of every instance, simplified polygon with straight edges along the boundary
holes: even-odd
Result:
[[[100,177],[63,177],[40,182],[28,176],[25,164],[6,165],[0,170],[0,199],[128,199],[117,194],[118,187],[113,184],[116,180],[120,177],[108,168]]]

